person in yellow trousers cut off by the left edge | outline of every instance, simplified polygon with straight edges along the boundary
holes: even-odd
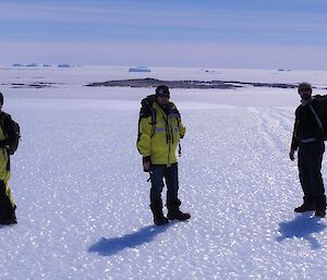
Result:
[[[0,224],[16,223],[15,204],[8,185],[10,173],[9,147],[16,141],[10,114],[2,111],[3,95],[0,93]]]

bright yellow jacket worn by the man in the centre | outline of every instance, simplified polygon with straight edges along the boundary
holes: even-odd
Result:
[[[137,149],[143,158],[149,157],[153,165],[169,167],[178,161],[175,149],[185,134],[185,127],[174,104],[169,102],[169,108],[167,115],[155,102],[155,124],[152,124],[152,115],[142,118],[138,124]]]

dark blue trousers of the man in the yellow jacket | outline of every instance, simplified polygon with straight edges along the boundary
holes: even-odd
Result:
[[[178,202],[179,192],[179,172],[178,163],[171,167],[164,165],[153,165],[150,168],[152,188],[150,188],[150,203],[152,205],[162,205],[161,193],[164,190],[164,178],[167,185],[167,205],[172,205]]]

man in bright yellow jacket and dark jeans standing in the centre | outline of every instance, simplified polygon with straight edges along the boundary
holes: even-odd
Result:
[[[178,198],[179,178],[175,150],[180,138],[185,134],[181,115],[169,101],[170,92],[165,85],[156,88],[156,101],[150,112],[141,115],[138,126],[137,149],[143,157],[143,169],[150,173],[150,209],[157,226],[169,220],[187,220],[191,215],[180,210]],[[162,212],[161,193],[167,185],[167,218]]]

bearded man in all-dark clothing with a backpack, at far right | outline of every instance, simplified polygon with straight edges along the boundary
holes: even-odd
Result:
[[[298,150],[298,167],[301,186],[304,193],[303,204],[295,212],[315,210],[316,217],[326,216],[326,196],[322,178],[322,161],[325,151],[322,123],[319,123],[319,102],[312,98],[312,86],[301,83],[298,87],[301,105],[295,110],[295,123],[290,149],[290,159],[294,160]]]

